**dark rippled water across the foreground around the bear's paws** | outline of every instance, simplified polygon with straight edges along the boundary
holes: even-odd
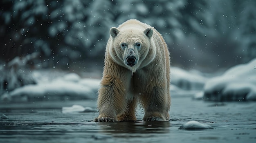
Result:
[[[0,143],[256,143],[256,102],[204,102],[173,97],[171,121],[95,123],[95,112],[63,114],[61,107],[96,101],[0,103]],[[138,120],[143,114],[138,111]],[[188,122],[213,130],[179,130]]]

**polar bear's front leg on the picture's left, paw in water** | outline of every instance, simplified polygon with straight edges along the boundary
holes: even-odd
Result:
[[[115,69],[111,69],[115,68]],[[129,72],[122,67],[111,66],[103,73],[98,95],[99,117],[94,121],[118,121],[118,114],[122,114],[127,106],[127,92],[130,84]]]

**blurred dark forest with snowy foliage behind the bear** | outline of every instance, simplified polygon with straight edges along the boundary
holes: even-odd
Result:
[[[102,70],[110,27],[131,18],[164,36],[172,66],[213,73],[256,57],[255,0],[1,0],[0,9],[0,70]]]

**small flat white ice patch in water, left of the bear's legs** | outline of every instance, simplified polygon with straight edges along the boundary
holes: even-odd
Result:
[[[91,107],[83,107],[81,105],[73,105],[71,107],[62,107],[62,113],[77,113],[77,112],[94,112]]]

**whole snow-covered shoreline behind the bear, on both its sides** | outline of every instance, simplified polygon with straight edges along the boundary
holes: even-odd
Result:
[[[65,101],[97,99],[100,79],[81,78],[75,73],[33,74],[37,84],[6,92],[0,101]],[[256,59],[234,66],[223,75],[208,78],[199,71],[171,67],[171,96],[189,96],[205,101],[255,101]]]

